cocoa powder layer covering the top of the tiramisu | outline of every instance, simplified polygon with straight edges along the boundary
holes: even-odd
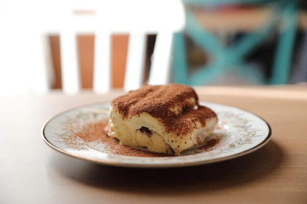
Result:
[[[194,98],[194,103],[189,99]],[[119,96],[111,101],[125,118],[148,113],[157,118],[167,132],[176,135],[186,135],[196,128],[196,122],[205,127],[206,119],[217,117],[216,114],[204,106],[199,105],[198,96],[193,88],[186,85],[169,84],[165,86],[144,85],[135,91]],[[195,106],[198,108],[195,110]],[[182,107],[180,113],[172,110]]]

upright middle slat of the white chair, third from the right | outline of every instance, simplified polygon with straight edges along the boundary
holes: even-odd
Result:
[[[97,33],[95,36],[93,89],[104,93],[111,89],[111,35]]]

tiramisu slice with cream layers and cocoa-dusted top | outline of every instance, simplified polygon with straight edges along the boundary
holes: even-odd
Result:
[[[204,143],[217,123],[216,114],[198,103],[189,86],[145,85],[112,100],[109,136],[121,144],[180,155]]]

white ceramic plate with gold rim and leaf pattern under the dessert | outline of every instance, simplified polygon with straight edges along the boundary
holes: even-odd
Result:
[[[108,120],[109,102],[75,108],[52,117],[42,128],[42,137],[51,148],[66,155],[128,167],[179,167],[213,163],[249,154],[269,141],[270,126],[254,113],[217,103],[200,104],[218,115],[218,127],[208,140],[218,139],[219,143],[203,150],[195,148],[186,151],[178,157],[125,156],[121,151],[113,151],[122,147],[119,144],[114,146],[114,141],[112,146],[103,140],[95,140],[97,133],[96,137],[91,134],[97,132],[98,126],[89,124],[101,124],[101,121]],[[85,129],[82,128],[84,126]],[[92,139],[84,140],[85,134]]]

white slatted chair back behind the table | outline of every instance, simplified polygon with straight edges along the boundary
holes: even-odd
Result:
[[[66,93],[80,90],[76,40],[80,34],[95,36],[94,91],[103,93],[111,88],[112,34],[129,34],[125,90],[137,89],[144,81],[148,34],[157,34],[148,83],[168,82],[173,33],[180,32],[185,25],[184,8],[180,0],[66,0],[38,4],[35,11],[23,12],[25,18],[31,20],[24,23],[30,24],[27,25],[29,35],[26,35],[30,39],[28,43],[31,45],[28,46],[32,51],[27,56],[31,59],[28,65],[34,67],[32,74],[36,73],[30,88],[32,92],[50,89],[51,80],[48,76],[51,60],[47,41],[50,34],[60,37],[62,87]],[[32,37],[29,37],[30,34]],[[1,58],[0,66],[3,66]],[[25,68],[22,63],[16,66]]]

